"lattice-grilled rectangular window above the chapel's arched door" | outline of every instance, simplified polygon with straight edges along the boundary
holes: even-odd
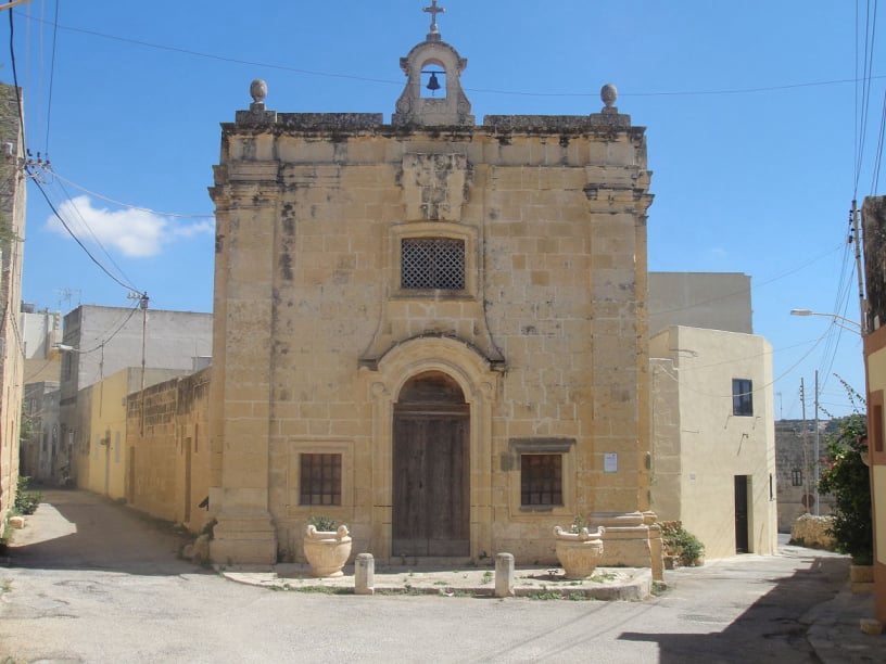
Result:
[[[400,288],[465,288],[465,241],[451,238],[404,238],[400,245]]]

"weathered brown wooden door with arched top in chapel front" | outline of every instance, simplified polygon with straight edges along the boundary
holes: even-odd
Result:
[[[410,379],[394,405],[392,554],[470,554],[470,407],[441,371]]]

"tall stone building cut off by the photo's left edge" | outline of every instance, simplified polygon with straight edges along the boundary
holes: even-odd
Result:
[[[24,344],[18,330],[25,237],[25,174],[20,89],[0,84],[0,537],[15,501]]]

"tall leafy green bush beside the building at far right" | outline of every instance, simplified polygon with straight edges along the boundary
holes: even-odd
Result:
[[[827,534],[837,550],[858,565],[870,565],[874,554],[871,511],[871,476],[863,456],[868,454],[868,421],[853,412],[839,419],[838,429],[826,437],[819,491],[834,496],[834,524]]]

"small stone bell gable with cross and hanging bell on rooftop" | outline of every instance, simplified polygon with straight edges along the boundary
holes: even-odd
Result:
[[[443,41],[436,26],[436,15],[446,10],[432,0],[425,12],[431,14],[431,27],[425,41],[417,44],[400,66],[407,81],[391,116],[395,126],[470,127],[474,117],[461,89],[461,72],[468,61]]]

